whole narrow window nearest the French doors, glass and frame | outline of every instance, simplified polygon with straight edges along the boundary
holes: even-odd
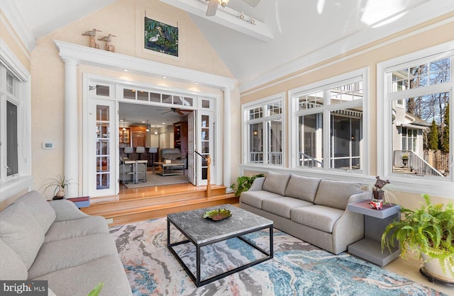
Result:
[[[284,134],[283,95],[272,96],[243,106],[245,159],[248,164],[282,166]]]

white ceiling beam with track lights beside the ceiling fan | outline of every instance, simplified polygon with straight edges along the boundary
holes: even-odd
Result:
[[[225,8],[218,9],[215,16],[206,16],[207,4],[205,1],[200,0],[160,0],[165,4],[175,6],[179,9],[192,13],[206,20],[213,21],[226,28],[231,28],[245,35],[262,41],[270,41],[274,37],[271,30],[261,21],[255,20],[255,24],[238,18],[240,12],[226,6]],[[249,16],[247,16],[249,17]]]

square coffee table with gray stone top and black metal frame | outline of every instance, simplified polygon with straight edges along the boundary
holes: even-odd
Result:
[[[209,219],[204,219],[204,212],[208,210],[217,210],[218,208],[230,210],[233,214],[232,217],[228,217],[221,221],[213,221]],[[171,225],[173,227],[171,227]],[[185,239],[182,241],[171,242],[171,228],[179,230]],[[254,241],[246,239],[245,234],[251,234],[253,232],[258,232],[262,229],[269,229],[270,232],[270,241],[268,250],[262,249],[260,246],[255,244]],[[239,207],[234,207],[233,205],[218,205],[216,207],[206,207],[204,209],[191,210],[187,212],[178,212],[175,214],[167,215],[167,248],[172,252],[172,254],[177,258],[177,261],[182,265],[184,270],[187,272],[189,277],[194,281],[197,287],[201,285],[206,285],[225,277],[226,275],[231,275],[238,271],[242,271],[245,268],[254,266],[255,264],[267,261],[273,258],[273,246],[272,246],[272,229],[273,224],[272,220],[268,220],[259,215],[255,215],[252,212],[240,209]],[[260,251],[264,256],[258,258],[255,261],[246,263],[243,266],[238,266],[236,268],[230,269],[228,271],[223,271],[216,275],[201,279],[201,249],[209,246],[211,244],[216,244],[220,241],[226,241],[227,239],[238,238],[241,241],[244,241],[249,246],[252,246],[253,249]],[[195,274],[190,270],[189,266],[182,260],[175,246],[180,244],[193,244],[196,249],[196,272]],[[260,254],[260,253],[259,253]]]

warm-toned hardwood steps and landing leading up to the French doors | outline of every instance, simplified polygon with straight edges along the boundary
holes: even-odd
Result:
[[[92,198],[82,211],[103,216],[109,226],[165,217],[172,212],[194,210],[223,204],[238,205],[233,193],[226,194],[225,186],[211,186],[211,197],[206,198],[206,186],[155,186],[148,188],[121,188],[120,194]]]

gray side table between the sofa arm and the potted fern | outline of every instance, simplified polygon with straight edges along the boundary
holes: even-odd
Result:
[[[381,240],[384,229],[394,220],[400,220],[400,205],[384,204],[381,210],[370,208],[370,200],[350,203],[347,209],[364,215],[364,239],[350,244],[348,253],[367,261],[385,266],[400,254],[399,244],[389,253],[388,249],[382,252]]]

